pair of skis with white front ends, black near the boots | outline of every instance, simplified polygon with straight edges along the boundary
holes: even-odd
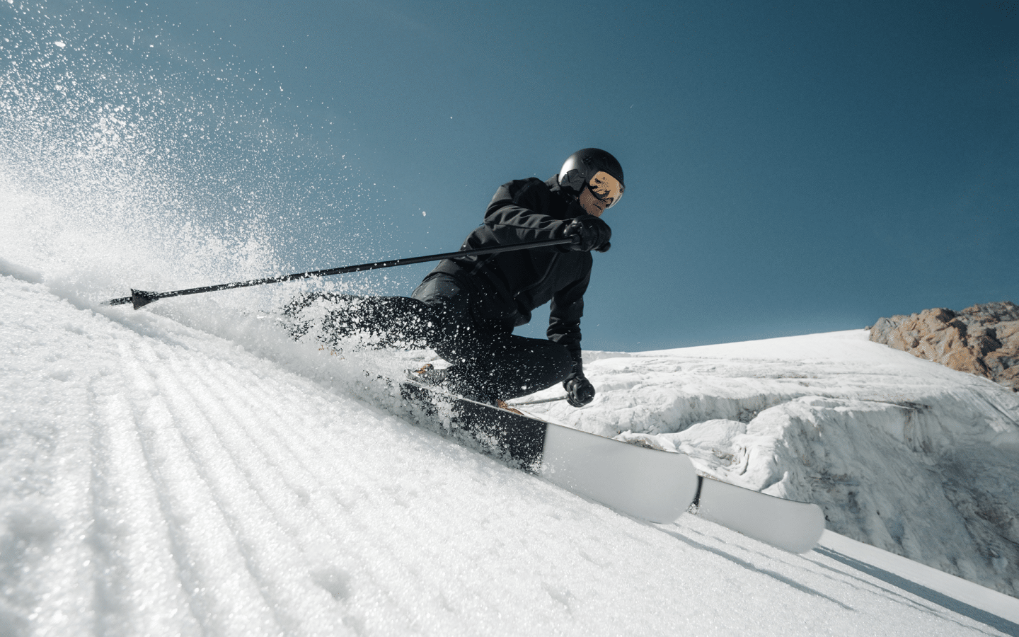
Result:
[[[549,423],[414,381],[388,381],[407,415],[511,466],[620,513],[653,522],[698,517],[791,552],[824,530],[816,505],[698,475],[690,458]]]

